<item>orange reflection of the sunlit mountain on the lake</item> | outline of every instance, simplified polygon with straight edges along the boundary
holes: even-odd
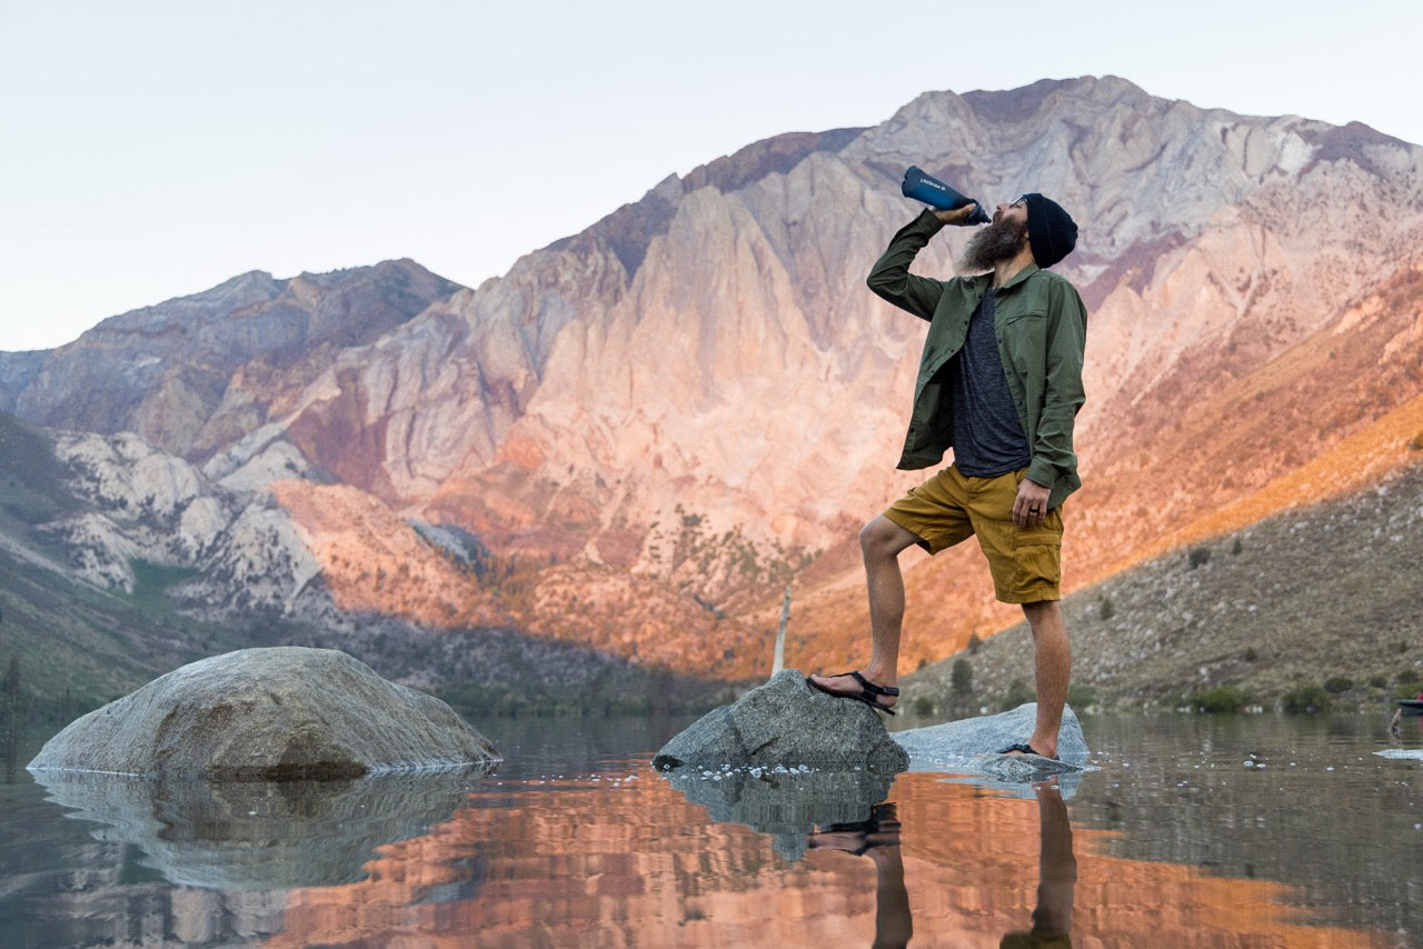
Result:
[[[494,797],[491,797],[494,795]],[[906,774],[892,798],[916,946],[996,945],[1036,902],[1032,801]],[[505,802],[512,798],[505,798]],[[295,892],[272,946],[868,945],[875,871],[842,852],[781,858],[741,824],[707,822],[653,774],[481,791],[431,834],[383,848],[369,878]],[[1311,928],[1286,886],[1113,857],[1076,835],[1079,945],[1370,945]]]

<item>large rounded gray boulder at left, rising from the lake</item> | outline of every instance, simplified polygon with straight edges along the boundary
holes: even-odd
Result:
[[[31,771],[232,781],[492,765],[450,706],[330,649],[243,649],[175,669],[54,736]]]

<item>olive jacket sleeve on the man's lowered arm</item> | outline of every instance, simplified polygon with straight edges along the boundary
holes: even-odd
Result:
[[[1027,478],[1053,485],[1077,471],[1073,423],[1087,401],[1081,367],[1087,346],[1087,307],[1066,280],[1053,280],[1047,300],[1047,351],[1043,414],[1032,445]]]

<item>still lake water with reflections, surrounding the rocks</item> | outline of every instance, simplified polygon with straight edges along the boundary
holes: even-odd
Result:
[[[650,765],[689,721],[491,720],[494,774],[314,788],[46,787],[26,736],[0,945],[1423,948],[1419,719],[1084,717],[1077,781],[908,773],[838,829],[795,774],[714,820],[734,781]]]

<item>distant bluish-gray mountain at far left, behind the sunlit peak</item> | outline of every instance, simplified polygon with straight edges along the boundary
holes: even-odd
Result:
[[[413,260],[285,280],[253,270],[11,361],[13,381],[0,363],[0,410],[57,428],[135,431],[199,458],[266,421],[273,373],[283,386],[310,378],[313,359],[373,341],[455,287]]]

